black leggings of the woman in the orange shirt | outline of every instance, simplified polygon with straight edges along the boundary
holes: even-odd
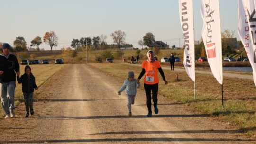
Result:
[[[157,84],[145,84],[144,83],[144,90],[146,92],[146,105],[149,112],[151,110],[151,90],[152,90],[152,99],[154,102],[154,107],[157,106],[157,93],[158,93],[158,83]]]

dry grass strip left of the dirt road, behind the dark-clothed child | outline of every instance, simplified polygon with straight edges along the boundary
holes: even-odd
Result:
[[[40,89],[40,86],[44,84],[55,72],[59,71],[64,67],[63,64],[47,64],[47,65],[30,65],[33,75],[36,77],[37,86]],[[21,75],[24,72],[25,65],[20,65]],[[37,91],[34,92],[34,97],[37,97]],[[16,82],[15,88],[15,106],[18,106],[20,102],[23,102],[23,93],[21,89],[21,84]],[[5,116],[3,108],[0,108],[0,117]]]

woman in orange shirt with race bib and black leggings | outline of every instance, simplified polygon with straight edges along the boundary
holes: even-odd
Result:
[[[146,92],[146,105],[148,109],[147,117],[152,116],[152,110],[151,110],[151,91],[152,91],[152,99],[154,102],[154,112],[155,114],[158,114],[158,108],[157,108],[157,93],[158,93],[158,74],[157,70],[160,72],[163,80],[165,81],[165,84],[168,84],[168,82],[165,80],[165,74],[164,71],[161,68],[161,64],[159,61],[154,59],[154,52],[152,50],[147,51],[147,60],[142,62],[142,71],[140,72],[140,75],[137,79],[137,83],[142,78],[142,76],[145,74],[144,77],[144,90]]]

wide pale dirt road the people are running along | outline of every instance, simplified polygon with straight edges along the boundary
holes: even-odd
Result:
[[[159,114],[146,117],[146,96],[137,91],[132,117],[123,80],[86,64],[66,65],[39,88],[35,115],[1,119],[0,143],[255,144],[239,130],[158,96]]]

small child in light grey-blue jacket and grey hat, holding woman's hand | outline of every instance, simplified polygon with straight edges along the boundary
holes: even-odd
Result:
[[[126,91],[126,97],[127,97],[127,107],[129,110],[129,116],[132,116],[131,113],[131,105],[134,104],[137,88],[140,87],[140,83],[136,83],[136,79],[134,79],[134,72],[130,71],[128,72],[128,78],[125,79],[123,86],[118,91],[118,94],[121,95],[121,92],[123,90]]]

